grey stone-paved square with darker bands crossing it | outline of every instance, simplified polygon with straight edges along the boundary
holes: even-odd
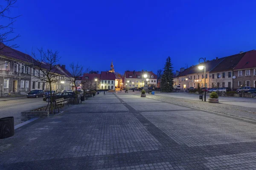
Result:
[[[99,95],[0,140],[0,170],[256,169],[256,124],[131,94]]]

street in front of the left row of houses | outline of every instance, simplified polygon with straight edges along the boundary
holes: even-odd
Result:
[[[44,102],[43,98],[25,98],[0,101],[0,118],[14,116],[14,124],[17,125],[21,123],[20,112],[38,108],[43,105],[47,105],[47,102]]]

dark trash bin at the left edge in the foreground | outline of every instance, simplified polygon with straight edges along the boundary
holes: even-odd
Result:
[[[0,119],[0,139],[9,138],[14,135],[14,118],[3,117]]]

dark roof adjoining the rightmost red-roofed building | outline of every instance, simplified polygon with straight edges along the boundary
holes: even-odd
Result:
[[[221,63],[219,63],[215,68],[213,68],[211,72],[233,70],[233,68],[236,67],[236,65],[239,63],[239,61],[244,57],[244,55],[247,52],[225,57],[225,59]]]

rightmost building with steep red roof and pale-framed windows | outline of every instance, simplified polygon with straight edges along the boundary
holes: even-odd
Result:
[[[233,88],[250,86],[256,88],[256,51],[248,51],[234,68]]]

